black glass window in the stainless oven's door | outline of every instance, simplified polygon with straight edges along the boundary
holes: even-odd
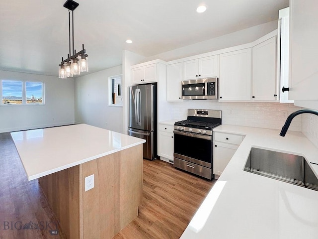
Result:
[[[212,163],[212,141],[174,133],[174,152]]]

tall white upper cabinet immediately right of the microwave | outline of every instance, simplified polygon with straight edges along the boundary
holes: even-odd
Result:
[[[219,101],[250,101],[250,48],[220,54],[219,89]]]

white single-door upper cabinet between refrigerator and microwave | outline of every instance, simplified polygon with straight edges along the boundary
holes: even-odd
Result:
[[[167,101],[182,101],[182,62],[167,65]]]

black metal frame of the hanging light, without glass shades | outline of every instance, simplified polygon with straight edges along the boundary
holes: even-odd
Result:
[[[62,57],[62,61],[61,61],[61,65],[63,65],[64,63],[70,62],[72,59],[77,58],[78,56],[85,54],[86,51],[84,49],[84,44],[82,44],[82,50],[79,51],[78,53],[76,52],[76,50],[74,50],[74,17],[73,17],[73,11],[79,6],[79,3],[73,0],[67,0],[64,5],[64,7],[69,9],[69,47],[70,47],[70,53],[68,54],[68,58],[63,60]],[[72,11],[72,43],[73,43],[73,49],[72,49],[72,53],[73,55],[71,56],[71,11]]]

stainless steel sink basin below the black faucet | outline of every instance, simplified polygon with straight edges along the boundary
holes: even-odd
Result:
[[[318,191],[318,179],[302,156],[251,148],[244,171]]]

